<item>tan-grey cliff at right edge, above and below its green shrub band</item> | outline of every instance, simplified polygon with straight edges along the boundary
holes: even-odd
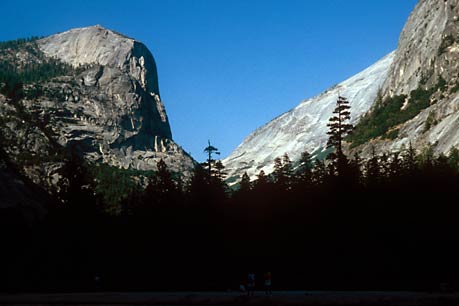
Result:
[[[417,149],[433,145],[436,153],[447,153],[459,146],[459,0],[419,1],[400,35],[383,96],[409,96],[439,81],[445,86],[431,95],[430,106],[396,127],[396,139],[373,139],[353,151],[366,156],[372,147],[391,152],[411,143]]]

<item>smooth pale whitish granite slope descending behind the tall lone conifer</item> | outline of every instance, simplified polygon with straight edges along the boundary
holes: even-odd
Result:
[[[244,172],[252,179],[261,170],[271,173],[274,159],[284,153],[296,160],[304,151],[314,155],[324,151],[328,138],[327,123],[338,96],[345,96],[350,101],[352,122],[356,123],[372,106],[393,58],[392,52],[357,75],[312,99],[304,100],[255,130],[223,160],[228,177],[232,178],[230,182]]]

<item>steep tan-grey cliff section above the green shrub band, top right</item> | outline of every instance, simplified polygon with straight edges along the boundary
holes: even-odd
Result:
[[[384,94],[409,94],[420,83],[459,72],[459,0],[421,0],[408,18],[397,56],[384,83]]]

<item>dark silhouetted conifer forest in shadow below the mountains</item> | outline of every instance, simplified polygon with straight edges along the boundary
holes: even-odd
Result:
[[[456,286],[459,151],[348,157],[349,117],[340,97],[325,161],[285,154],[234,190],[210,142],[185,182],[163,161],[148,174],[71,155],[44,220],[2,210],[1,288],[225,290],[250,271],[258,284],[272,272],[275,289]]]

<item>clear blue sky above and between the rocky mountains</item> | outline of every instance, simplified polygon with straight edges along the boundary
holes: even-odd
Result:
[[[274,117],[396,48],[417,0],[0,1],[0,40],[101,24],[158,66],[174,140],[222,157]]]

